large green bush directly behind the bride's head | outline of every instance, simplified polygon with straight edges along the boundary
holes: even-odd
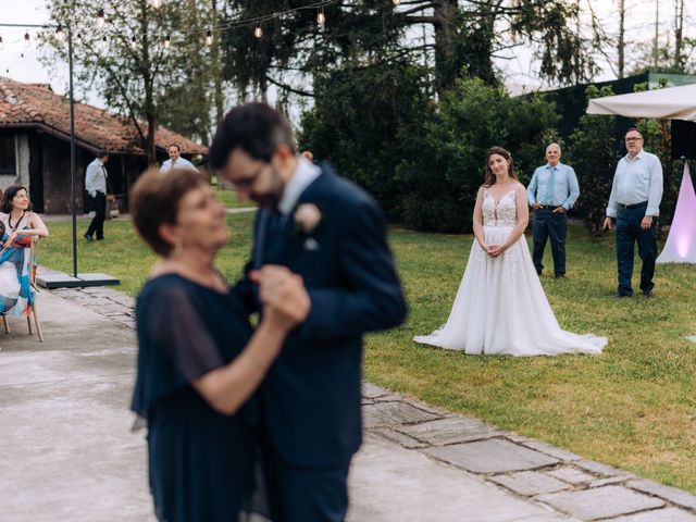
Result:
[[[554,104],[542,97],[510,98],[481,79],[458,80],[414,136],[418,154],[399,165],[407,190],[402,222],[417,229],[471,231],[486,150],[510,150],[520,181],[527,183],[556,121]]]

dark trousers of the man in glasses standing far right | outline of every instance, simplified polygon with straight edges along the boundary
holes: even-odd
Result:
[[[652,217],[650,228],[641,228],[647,203],[635,209],[619,209],[617,212],[617,262],[619,265],[620,296],[632,296],[631,277],[633,276],[634,246],[638,244],[638,256],[643,260],[641,269],[641,290],[650,291],[655,286],[655,260],[657,259],[657,219]]]

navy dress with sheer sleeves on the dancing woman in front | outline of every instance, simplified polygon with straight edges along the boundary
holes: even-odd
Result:
[[[241,303],[232,293],[166,274],[142,287],[136,318],[132,409],[147,422],[158,519],[239,520],[254,489],[251,408],[217,413],[191,382],[232,361],[249,341]]]

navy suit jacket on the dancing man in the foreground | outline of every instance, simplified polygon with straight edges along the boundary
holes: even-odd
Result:
[[[300,196],[297,207],[315,204],[320,224],[311,234],[285,223],[276,251],[302,275],[311,299],[307,321],[288,336],[257,399],[270,444],[297,465],[347,463],[362,440],[362,335],[401,324],[407,307],[376,203],[328,166]],[[269,262],[264,245],[269,211],[260,209],[254,248],[235,291],[257,310],[248,271]]]

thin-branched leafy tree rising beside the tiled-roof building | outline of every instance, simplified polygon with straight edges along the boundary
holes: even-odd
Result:
[[[156,9],[148,0],[48,2],[51,20],[72,30],[77,82],[97,89],[109,107],[133,123],[134,139],[150,163],[157,162],[154,133],[160,121],[199,137],[210,126],[209,77],[201,59],[201,10],[207,4],[187,0]],[[67,59],[64,41],[48,38],[46,44]]]

